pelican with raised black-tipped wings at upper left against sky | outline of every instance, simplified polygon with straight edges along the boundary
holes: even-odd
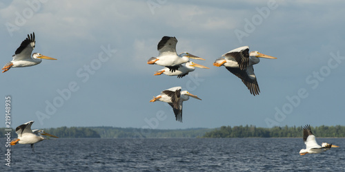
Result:
[[[21,45],[17,48],[15,54],[12,56],[13,60],[3,66],[3,72],[8,71],[11,67],[28,67],[32,65],[38,65],[42,61],[41,58],[48,60],[57,60],[56,58],[43,56],[42,54],[39,54],[37,52],[32,54],[31,57],[31,52],[32,50],[34,50],[35,42],[34,32],[33,34],[30,34],[30,36],[28,34],[28,38],[21,42]]]

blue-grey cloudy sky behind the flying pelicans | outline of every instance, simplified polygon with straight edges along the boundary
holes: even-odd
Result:
[[[344,125],[344,1],[5,1],[0,3],[1,61],[36,35],[34,52],[57,58],[1,74],[1,109],[11,125],[34,128],[185,129]],[[184,78],[153,76],[162,36],[210,69]],[[213,62],[248,45],[277,59],[255,65],[261,93]],[[161,102],[181,86],[202,100],[184,102],[184,122]],[[5,127],[5,117],[0,127]]]

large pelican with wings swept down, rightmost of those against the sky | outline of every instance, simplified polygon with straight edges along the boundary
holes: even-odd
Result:
[[[249,47],[244,46],[238,47],[230,52],[227,52],[226,54],[223,54],[221,58],[218,58],[215,63],[213,63],[213,65],[217,67],[224,65],[228,71],[239,77],[244,85],[248,87],[250,94],[255,96],[259,95],[260,92],[253,68],[253,65],[259,63],[260,61],[258,57],[271,59],[275,58],[257,51],[249,53]]]

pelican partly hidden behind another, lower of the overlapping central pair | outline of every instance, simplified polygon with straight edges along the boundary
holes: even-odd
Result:
[[[177,76],[177,78],[182,78],[188,75],[189,72],[193,72],[195,70],[195,67],[210,69],[206,66],[194,63],[193,61],[188,61],[186,65],[179,65],[179,68],[175,72],[171,72],[168,67],[165,67],[164,69],[156,71],[154,75],[166,74],[168,76]]]

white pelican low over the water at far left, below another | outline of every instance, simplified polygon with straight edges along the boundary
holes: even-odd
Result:
[[[19,125],[16,128],[16,133],[18,135],[18,138],[12,140],[10,142],[10,145],[14,145],[17,143],[30,144],[32,151],[34,151],[34,143],[41,142],[42,140],[45,139],[40,135],[57,138],[57,136],[53,136],[50,133],[44,132],[43,130],[38,130],[38,129],[31,130],[32,123],[34,123],[33,120],[26,122],[23,125]]]

